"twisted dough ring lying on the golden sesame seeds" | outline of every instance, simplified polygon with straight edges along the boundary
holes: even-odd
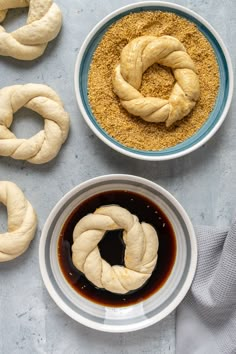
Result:
[[[154,63],[170,67],[176,83],[169,100],[144,97],[138,90],[143,73]],[[113,74],[114,92],[122,106],[147,122],[171,126],[195,106],[200,88],[195,65],[183,44],[171,36],[142,36],[128,43]]]

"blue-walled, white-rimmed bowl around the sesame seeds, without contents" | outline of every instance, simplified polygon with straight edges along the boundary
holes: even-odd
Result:
[[[212,112],[206,122],[193,136],[180,144],[164,150],[145,151],[132,149],[121,144],[112,138],[99,125],[92,113],[88,100],[88,73],[94,51],[108,28],[113,23],[131,12],[134,13],[157,10],[175,13],[176,15],[193,22],[198,27],[198,30],[207,38],[214,50],[219,66],[220,86]],[[201,16],[185,7],[168,2],[139,2],[122,7],[112,12],[100,21],[88,34],[77,56],[74,72],[74,85],[77,102],[86,123],[104,143],[114,150],[133,158],[150,161],[169,160],[186,155],[196,150],[205,144],[220,128],[228,113],[232,100],[233,69],[229,53],[222,39],[214,28],[212,28],[212,26]]]

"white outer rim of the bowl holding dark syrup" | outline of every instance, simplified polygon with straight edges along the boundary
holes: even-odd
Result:
[[[190,259],[190,265],[188,269],[188,274],[186,276],[186,279],[183,283],[183,286],[181,287],[179,293],[177,296],[173,299],[173,301],[165,308],[163,309],[160,313],[156,314],[155,316],[151,318],[147,318],[144,321],[135,323],[135,324],[128,324],[128,325],[109,325],[109,324],[101,324],[101,323],[96,323],[92,320],[86,319],[83,316],[79,315],[76,313],[73,309],[71,309],[67,304],[64,303],[64,301],[60,298],[60,296],[57,294],[55,291],[51,279],[48,275],[47,272],[47,267],[45,264],[45,242],[48,236],[48,229],[54,220],[55,215],[57,214],[57,211],[66,203],[68,199],[70,199],[71,196],[73,196],[78,190],[87,188],[89,186],[92,186],[94,183],[98,182],[104,182],[104,181],[111,181],[111,180],[124,180],[127,181],[133,181],[133,182],[138,182],[142,183],[146,186],[152,187],[155,190],[158,190],[161,194],[163,194],[174,206],[175,208],[179,211],[180,215],[183,218],[183,221],[187,227],[188,233],[189,233],[189,239],[190,239],[190,247],[191,247],[191,254],[192,257]],[[194,275],[196,272],[196,267],[197,267],[197,257],[198,257],[198,250],[197,250],[197,239],[196,239],[196,234],[192,225],[192,222],[186,213],[185,209],[182,207],[182,205],[177,201],[177,199],[170,193],[168,192],[165,188],[161,187],[155,182],[152,182],[148,179],[145,179],[143,177],[138,177],[135,175],[128,175],[128,174],[108,174],[108,175],[102,175],[98,177],[94,177],[92,179],[89,179],[85,182],[82,182],[72,188],[69,192],[67,192],[53,207],[51,212],[49,213],[49,216],[44,224],[40,241],[39,241],[39,267],[40,267],[40,272],[41,276],[44,282],[44,285],[46,289],[48,290],[49,295],[51,298],[54,300],[54,302],[58,305],[58,307],[64,311],[69,317],[74,319],[75,321],[89,327],[93,328],[102,332],[112,332],[112,333],[122,333],[122,332],[131,332],[131,331],[136,331],[139,329],[143,329],[146,327],[149,327],[150,325],[159,322],[160,320],[164,319],[167,315],[169,315],[171,312],[173,312],[176,307],[181,303],[181,301],[184,299],[186,296],[192,281],[194,279]]]

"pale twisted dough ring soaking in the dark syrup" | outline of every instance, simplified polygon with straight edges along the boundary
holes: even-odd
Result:
[[[123,229],[126,245],[122,266],[101,258],[98,243],[107,230]],[[118,205],[106,205],[83,217],[73,232],[72,261],[95,286],[125,294],[138,289],[151,276],[157,262],[155,229]]]

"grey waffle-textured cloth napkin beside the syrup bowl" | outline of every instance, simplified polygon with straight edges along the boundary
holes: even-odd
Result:
[[[236,354],[236,220],[197,230],[198,266],[177,309],[176,354]]]

